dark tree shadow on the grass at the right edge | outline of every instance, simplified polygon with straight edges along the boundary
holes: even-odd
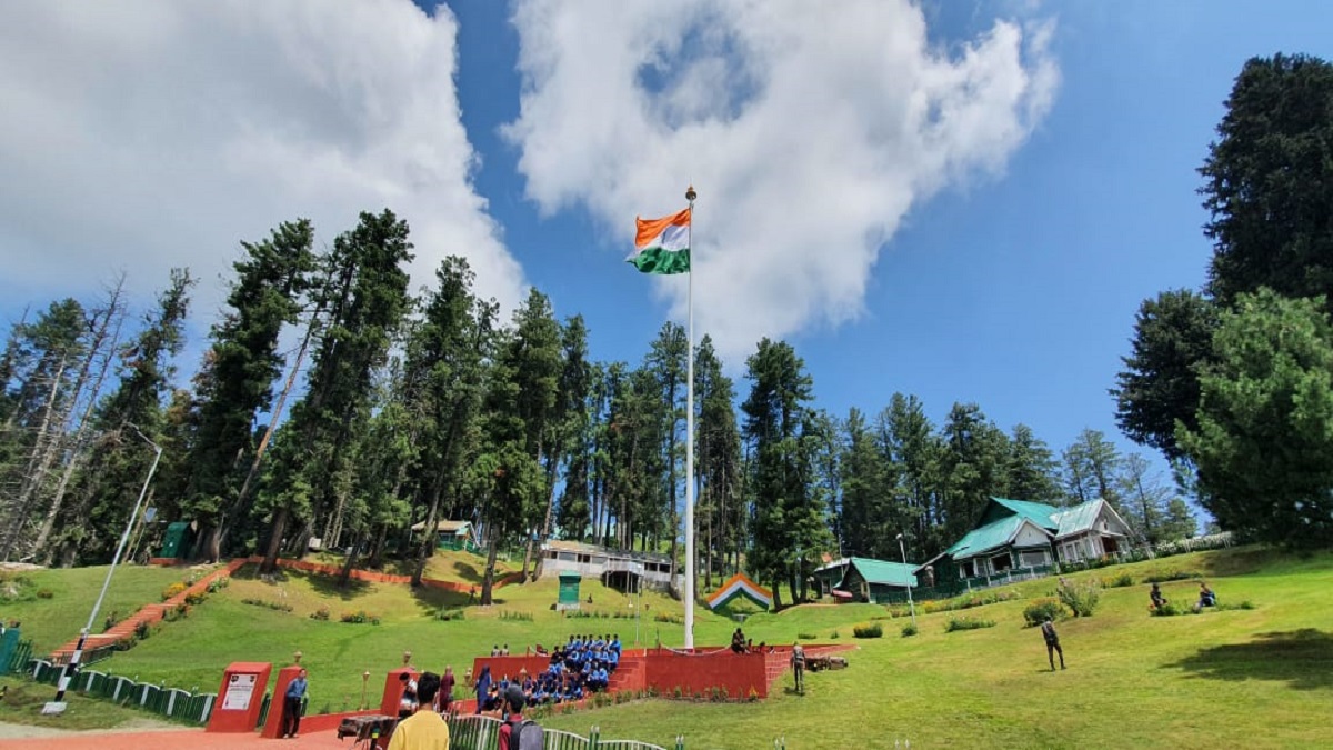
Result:
[[[1248,643],[1200,649],[1168,667],[1205,679],[1268,679],[1296,690],[1333,687],[1333,635],[1302,627],[1264,633]]]

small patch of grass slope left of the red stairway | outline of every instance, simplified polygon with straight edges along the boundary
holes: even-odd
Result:
[[[209,567],[197,569],[204,575]],[[139,607],[161,601],[163,589],[183,581],[192,570],[171,567],[117,566],[107,590],[107,599],[93,622],[93,633],[101,633],[105,618],[112,613],[120,618],[139,611]],[[79,637],[88,625],[92,605],[107,579],[107,566],[76,567],[71,570],[5,571],[3,578],[25,578],[31,585],[20,585],[23,591],[45,590],[49,599],[27,597],[23,601],[0,598],[0,618],[8,623],[20,621],[23,637],[32,639],[33,651],[48,654],[53,649]]]

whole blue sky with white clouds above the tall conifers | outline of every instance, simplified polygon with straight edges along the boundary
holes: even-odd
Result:
[[[754,21],[792,33],[781,19],[705,0],[678,28],[647,3],[456,0],[423,15],[368,0],[325,16],[297,1],[207,17],[145,5],[84,24],[67,16],[96,12],[44,5],[16,5],[0,31],[0,95],[29,112],[0,127],[9,320],[29,302],[92,295],[115,268],[143,307],[167,266],[189,264],[204,278],[199,334],[239,240],[301,215],[327,242],[356,210],[389,206],[417,232],[417,282],[467,252],[487,294],[512,304],[535,284],[560,315],[585,316],[596,358],[637,362],[681,298],[623,263],[633,215],[680,208],[694,180],[696,292],[733,375],[757,335],[776,335],[836,414],[878,411],[894,391],[936,420],[976,402],[1057,451],[1085,427],[1134,448],[1106,390],[1138,303],[1204,280],[1196,168],[1241,64],[1333,56],[1333,7],[1314,1],[856,4],[870,25],[860,36],[852,12],[802,21],[812,44],[793,67],[826,76],[813,81],[781,56],[745,57],[764,41],[746,36]],[[830,60],[844,45],[909,48],[914,19],[924,52],[885,55],[882,71]],[[676,32],[698,47],[674,48]],[[656,49],[648,63],[639,41]],[[916,157],[894,115],[896,80],[921,71],[970,76],[920,84],[944,87],[944,109],[960,91],[997,92],[990,109],[966,109],[980,129],[948,136],[937,161]],[[816,112],[765,111],[765,92]],[[632,107],[637,119],[617,121]],[[854,151],[846,133],[869,135]],[[746,244],[742,230],[797,219]],[[741,272],[764,266],[792,270]],[[183,368],[193,362],[197,348]]]

